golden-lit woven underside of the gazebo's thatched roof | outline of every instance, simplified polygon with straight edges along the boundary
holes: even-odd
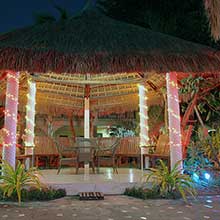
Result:
[[[27,79],[31,78],[26,72],[20,74],[19,109],[25,111],[27,95]],[[162,104],[160,88],[165,84],[163,75],[152,74],[147,80],[137,73],[124,73],[114,75],[92,75],[90,80],[99,82],[115,82],[115,84],[91,84],[90,106],[92,112],[101,114],[121,113],[138,110],[138,84],[145,82],[149,91],[149,105]],[[83,84],[64,84],[78,81],[82,75],[71,74],[45,74],[36,77],[36,110],[37,113],[50,114],[77,114],[83,115],[85,87]],[[40,79],[40,80],[38,80]],[[41,80],[43,79],[43,80]],[[133,81],[132,81],[133,80]],[[116,84],[121,82],[121,84]],[[6,81],[0,83],[0,94],[4,93]]]

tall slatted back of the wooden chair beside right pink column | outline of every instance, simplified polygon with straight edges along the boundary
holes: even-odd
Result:
[[[158,138],[155,154],[169,155],[169,136],[167,134],[161,134]]]

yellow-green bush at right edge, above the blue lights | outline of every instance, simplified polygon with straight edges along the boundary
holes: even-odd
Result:
[[[220,129],[207,137],[204,143],[204,153],[215,167],[220,169]]]

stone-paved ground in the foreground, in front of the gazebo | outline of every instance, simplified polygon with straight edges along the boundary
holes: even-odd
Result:
[[[0,219],[23,220],[219,220],[220,197],[204,196],[185,204],[182,200],[141,200],[106,196],[102,201],[65,197],[48,202],[0,203]]]

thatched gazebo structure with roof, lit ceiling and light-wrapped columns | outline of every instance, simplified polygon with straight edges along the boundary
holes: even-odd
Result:
[[[166,80],[173,167],[182,160],[177,76],[218,74],[219,66],[215,49],[119,22],[95,9],[2,34],[2,157],[15,166],[18,99],[20,111],[26,112],[26,154],[33,152],[35,111],[84,115],[84,137],[89,138],[91,112],[130,110],[140,111],[139,145],[144,153],[149,141],[147,106],[160,102],[157,88]]]

